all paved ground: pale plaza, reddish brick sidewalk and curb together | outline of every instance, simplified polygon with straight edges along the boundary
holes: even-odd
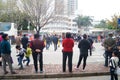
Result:
[[[104,57],[103,57],[103,47],[101,47],[101,43],[94,44],[96,47],[95,51],[93,51],[93,55],[88,57],[87,66],[85,72],[81,71],[82,65],[80,66],[80,70],[75,70],[74,67],[77,64],[79,57],[79,49],[77,45],[74,47],[74,55],[73,55],[73,73],[69,73],[66,71],[62,72],[62,48],[58,48],[57,51],[54,51],[53,46],[49,50],[44,49],[44,73],[34,73],[33,61],[31,57],[30,66],[24,66],[24,70],[19,70],[17,66],[17,58],[14,46],[12,46],[12,57],[14,60],[13,67],[15,71],[18,73],[16,75],[3,75],[2,67],[0,67],[0,79],[35,79],[35,78],[59,78],[59,77],[78,77],[78,76],[95,76],[95,75],[108,75],[109,68],[104,67]]]

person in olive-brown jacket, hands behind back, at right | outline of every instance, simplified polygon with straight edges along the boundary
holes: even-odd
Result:
[[[115,48],[116,41],[113,39],[113,33],[108,34],[108,38],[106,38],[103,42],[103,46],[105,48],[105,67],[108,67],[108,61],[112,57],[113,49]]]

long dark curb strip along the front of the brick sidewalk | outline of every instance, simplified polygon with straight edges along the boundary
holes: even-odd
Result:
[[[109,72],[95,72],[95,73],[43,73],[43,74],[14,74],[14,75],[0,75],[1,79],[43,79],[43,78],[67,78],[67,77],[88,77],[88,76],[102,76],[109,75]]]

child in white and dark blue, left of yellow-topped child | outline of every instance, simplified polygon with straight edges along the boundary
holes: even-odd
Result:
[[[23,69],[23,58],[24,58],[24,54],[26,52],[26,50],[24,48],[21,48],[20,46],[16,46],[16,49],[18,50],[18,65],[20,65],[20,68],[19,69]]]

